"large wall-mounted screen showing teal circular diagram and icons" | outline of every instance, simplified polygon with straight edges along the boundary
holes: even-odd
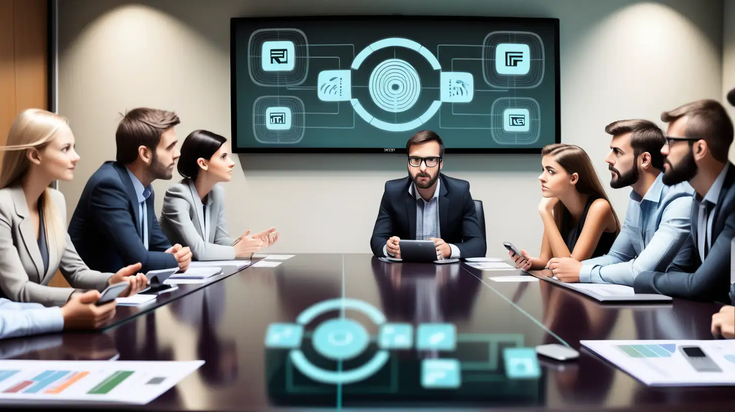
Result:
[[[558,21],[232,25],[237,152],[400,149],[420,129],[450,151],[559,140]]]

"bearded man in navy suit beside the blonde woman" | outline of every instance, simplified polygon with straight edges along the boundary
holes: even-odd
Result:
[[[139,107],[118,124],[117,161],[104,162],[90,177],[69,223],[71,241],[91,269],[137,262],[144,273],[188,268],[189,248],[171,246],[158,226],[151,185],[173,177],[179,122],[175,113]]]

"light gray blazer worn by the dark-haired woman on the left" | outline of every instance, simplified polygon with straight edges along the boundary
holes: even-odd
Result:
[[[171,244],[189,246],[194,260],[233,260],[234,239],[227,233],[224,203],[224,189],[215,185],[204,216],[194,182],[186,178],[166,191],[158,224]]]

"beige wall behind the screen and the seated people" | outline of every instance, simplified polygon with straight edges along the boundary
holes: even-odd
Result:
[[[197,128],[230,137],[229,18],[235,16],[423,13],[560,18],[562,141],[586,149],[606,184],[606,124],[632,117],[661,124],[662,110],[723,96],[722,1],[141,3],[60,2],[59,109],[71,119],[82,156],[76,180],[60,184],[70,216],[87,178],[115,156],[118,113],[137,106],[176,110],[182,118],[180,139]],[[728,0],[731,15],[732,3]],[[731,38],[732,32],[729,24]],[[282,240],[273,246],[274,252],[370,252],[383,184],[406,174],[404,157],[377,154],[241,155],[238,161],[241,171],[226,186],[230,230],[276,226]],[[458,154],[445,160],[445,173],[470,180],[473,196],[485,202],[488,255],[503,255],[502,241],[538,252],[539,170],[537,155]],[[170,184],[154,183],[157,210]],[[609,193],[622,218],[629,191]]]

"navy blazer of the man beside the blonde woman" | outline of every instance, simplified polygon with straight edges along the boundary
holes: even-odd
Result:
[[[91,269],[115,273],[140,262],[141,272],[176,268],[171,247],[158,226],[155,193],[148,196],[148,250],[140,238],[137,195],[126,166],[105,162],[90,177],[69,223],[69,236]]]

